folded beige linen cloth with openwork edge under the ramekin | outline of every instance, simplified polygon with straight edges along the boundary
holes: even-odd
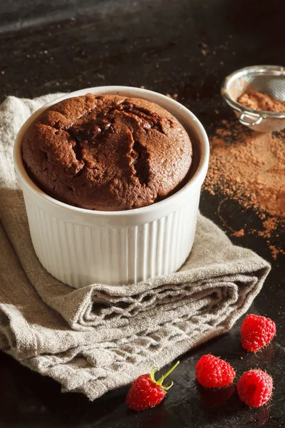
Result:
[[[190,257],[172,275],[74,290],[48,274],[33,251],[12,149],[26,118],[59,95],[0,106],[0,349],[95,399],[229,330],[270,266],[199,215]]]

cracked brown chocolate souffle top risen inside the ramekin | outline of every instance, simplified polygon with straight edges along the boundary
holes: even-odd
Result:
[[[90,210],[130,210],[178,190],[192,144],[176,118],[140,98],[87,94],[43,111],[26,131],[22,156],[48,195]]]

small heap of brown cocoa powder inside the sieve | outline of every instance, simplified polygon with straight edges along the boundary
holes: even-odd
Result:
[[[285,103],[261,92],[245,92],[237,99],[237,102],[253,110],[275,111],[278,113],[285,111]]]

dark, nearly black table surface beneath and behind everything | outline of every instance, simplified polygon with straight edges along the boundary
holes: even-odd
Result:
[[[219,95],[224,76],[252,64],[284,65],[284,14],[280,0],[1,1],[1,99],[105,84],[145,86],[177,93],[210,133],[217,120],[233,114]],[[207,192],[200,208],[237,245],[271,261],[271,273],[250,312],[274,318],[274,342],[256,355],[247,354],[239,345],[240,320],[231,332],[182,356],[167,399],[139,414],[125,405],[128,387],[88,402],[79,394],[61,394],[53,380],[0,354],[0,427],[284,426],[284,256],[272,260],[266,238],[232,236],[246,223],[259,227],[254,211]],[[281,227],[278,239],[279,245],[284,242]],[[269,372],[275,386],[270,404],[250,409],[234,393],[226,404],[212,407],[214,397],[197,387],[194,370],[208,352],[232,362],[238,376],[254,367]]]

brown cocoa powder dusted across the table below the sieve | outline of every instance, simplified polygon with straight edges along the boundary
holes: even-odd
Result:
[[[234,235],[257,233],[270,238],[285,220],[285,133],[257,133],[239,123],[222,121],[210,140],[209,170],[204,189],[254,208],[264,230],[237,230]],[[276,258],[284,250],[271,245]]]

